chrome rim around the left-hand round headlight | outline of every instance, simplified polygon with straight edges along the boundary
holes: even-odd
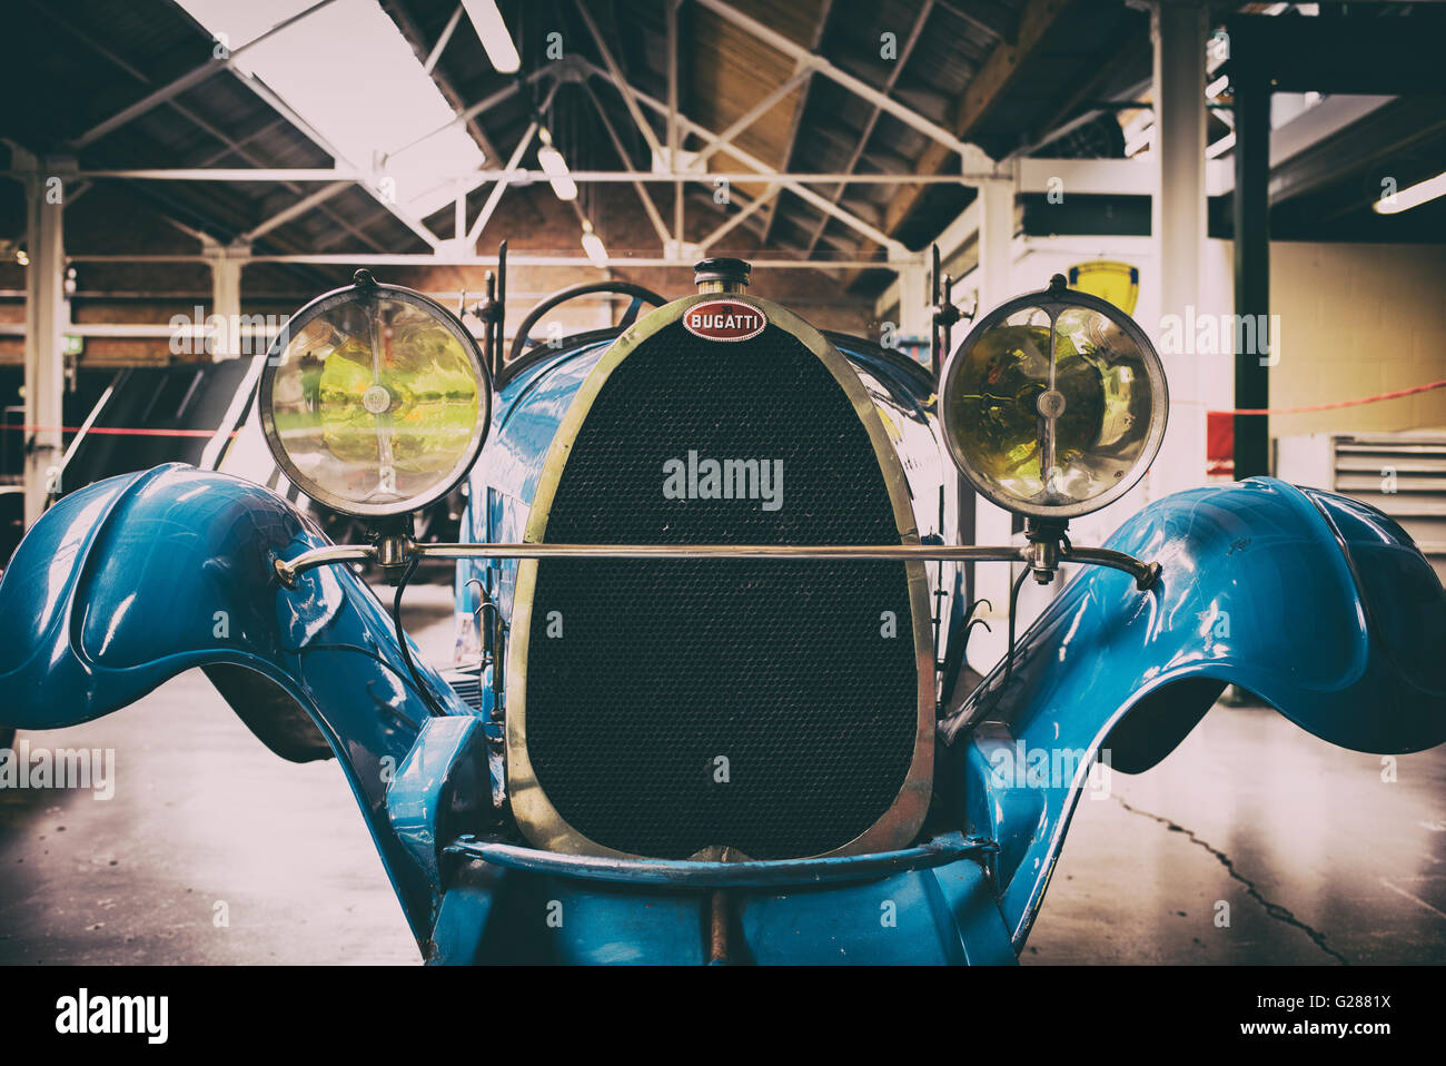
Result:
[[[362,272],[359,272],[359,275],[360,273]],[[448,472],[448,474],[442,480],[438,480],[431,489],[402,500],[379,505],[360,503],[341,496],[299,470],[292,461],[285,445],[281,443],[273,408],[276,372],[286,363],[285,354],[292,338],[307,325],[331,311],[335,311],[346,304],[356,304],[367,299],[386,299],[408,304],[425,312],[458,341],[461,350],[467,354],[473,378],[477,382],[477,419],[473,424],[467,450],[463,457]],[[338,513],[375,521],[416,513],[437,500],[444,499],[458,485],[466,482],[473,466],[477,463],[477,457],[482,454],[483,445],[487,443],[487,432],[492,427],[493,386],[492,372],[487,367],[487,360],[483,357],[482,347],[477,344],[477,338],[473,337],[471,333],[467,331],[467,327],[463,325],[461,320],[445,307],[438,304],[431,297],[418,292],[416,289],[409,289],[405,285],[377,282],[367,275],[366,279],[359,278],[359,281],[351,285],[344,285],[321,294],[286,320],[286,325],[276,334],[275,340],[272,340],[270,347],[262,359],[266,362],[262,366],[260,382],[256,389],[256,404],[260,412],[262,435],[266,438],[266,447],[270,450],[281,472],[302,495]]]

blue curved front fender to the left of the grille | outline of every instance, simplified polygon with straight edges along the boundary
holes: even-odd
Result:
[[[0,583],[0,725],[90,722],[207,668],[272,748],[337,756],[422,940],[435,885],[390,824],[386,794],[427,704],[356,574],[321,567],[286,589],[273,570],[328,542],[266,489],[179,464],[67,496]],[[445,710],[470,713],[419,660],[418,671]]]

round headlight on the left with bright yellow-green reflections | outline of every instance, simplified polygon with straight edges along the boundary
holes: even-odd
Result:
[[[359,281],[298,311],[266,354],[266,443],[314,500],[363,518],[441,499],[492,419],[477,341],[441,304]]]

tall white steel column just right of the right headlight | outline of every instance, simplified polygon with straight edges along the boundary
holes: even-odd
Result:
[[[1157,185],[1151,234],[1158,249],[1161,323],[1144,323],[1157,341],[1165,315],[1194,321],[1200,312],[1200,265],[1206,239],[1205,42],[1207,12],[1199,0],[1155,0],[1150,16],[1155,51],[1154,107]],[[1154,328],[1152,328],[1154,327]],[[1190,338],[1187,338],[1190,340]],[[1150,472],[1150,496],[1205,482],[1205,398],[1200,356],[1161,353],[1170,382],[1170,428]],[[1219,360],[1219,373],[1229,373]]]

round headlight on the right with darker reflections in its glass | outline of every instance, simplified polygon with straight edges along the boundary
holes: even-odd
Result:
[[[1086,515],[1124,496],[1160,450],[1170,396],[1144,331],[1064,286],[1002,304],[944,366],[940,421],[980,495],[1034,518]]]

